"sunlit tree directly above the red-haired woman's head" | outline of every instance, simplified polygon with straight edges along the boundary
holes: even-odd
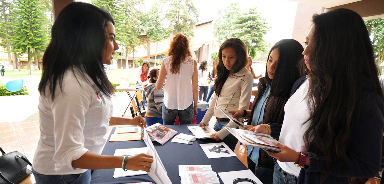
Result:
[[[168,6],[165,19],[168,30],[173,33],[183,33],[188,37],[194,36],[193,27],[199,21],[199,14],[192,0],[162,0]]]

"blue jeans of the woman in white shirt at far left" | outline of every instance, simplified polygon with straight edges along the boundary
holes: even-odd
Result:
[[[91,182],[91,170],[81,174],[44,175],[32,168],[32,173],[35,176],[36,184],[89,184]]]

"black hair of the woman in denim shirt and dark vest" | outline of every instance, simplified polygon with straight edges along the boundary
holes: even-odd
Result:
[[[273,80],[268,77],[268,71],[265,68],[265,80],[271,85],[271,95],[281,98],[287,98],[291,94],[293,84],[300,78],[298,63],[303,59],[303,46],[296,40],[280,40],[272,46],[268,58],[273,50],[279,52],[279,60],[276,65]],[[268,65],[268,61],[267,61]]]

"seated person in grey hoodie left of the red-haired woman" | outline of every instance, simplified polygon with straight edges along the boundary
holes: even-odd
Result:
[[[163,124],[162,106],[164,98],[164,88],[161,88],[160,90],[156,89],[156,80],[159,77],[159,73],[159,69],[152,69],[151,72],[149,72],[149,81],[151,83],[144,88],[144,90],[146,91],[146,98],[148,98],[147,111],[145,114],[147,126],[151,126],[155,123]]]

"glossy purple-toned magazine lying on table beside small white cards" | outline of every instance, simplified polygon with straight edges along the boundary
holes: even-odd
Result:
[[[161,145],[164,145],[170,138],[178,133],[174,129],[170,129],[161,123],[152,124],[147,127],[146,130],[149,137]]]

